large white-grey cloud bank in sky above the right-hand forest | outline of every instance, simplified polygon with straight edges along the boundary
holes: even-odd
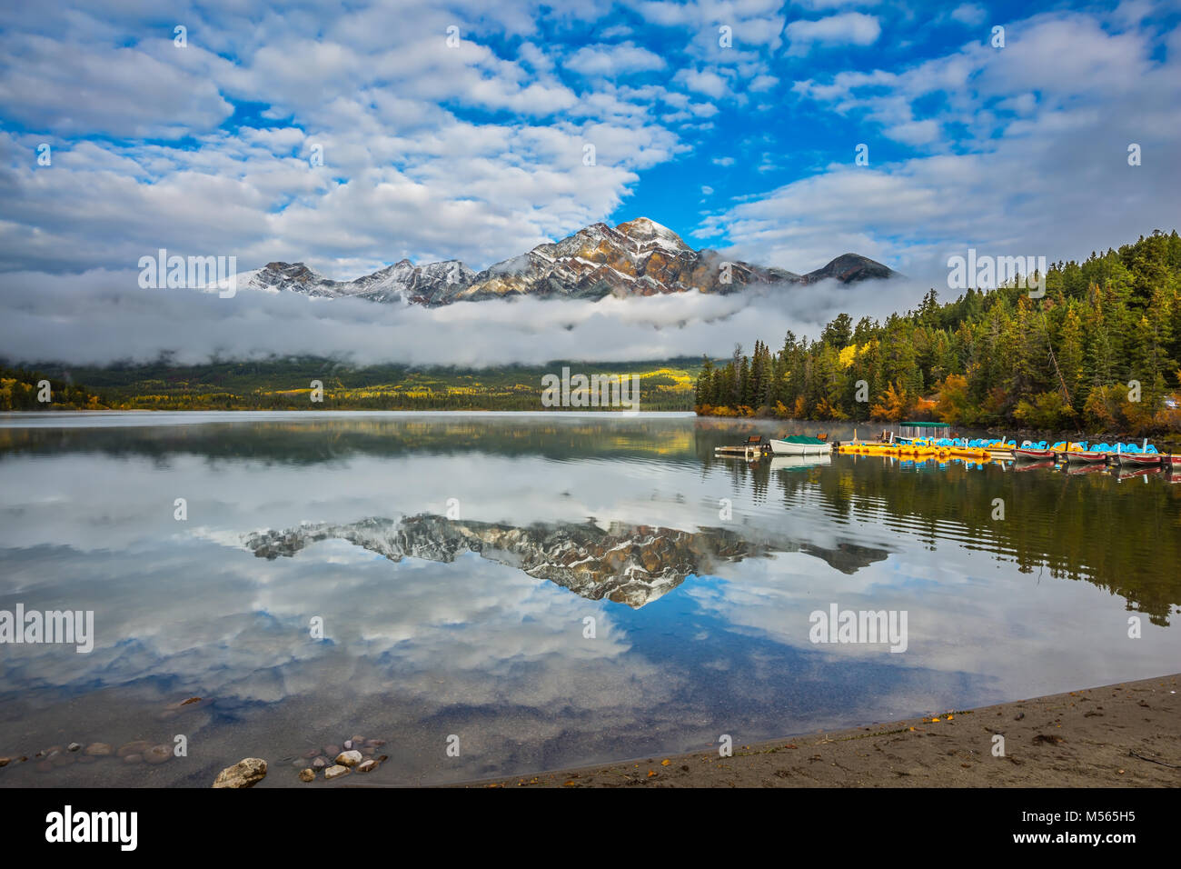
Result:
[[[1181,52],[1157,54],[1150,31],[1109,32],[1081,14],[1036,15],[1006,33],[1003,51],[978,39],[898,71],[797,82],[818,108],[859,118],[870,164],[853,166],[850,149],[706,216],[698,234],[794,268],[854,251],[938,287],[946,258],[968,247],[1083,259],[1177,228]],[[890,151],[875,144],[875,123],[922,150],[879,158]],[[1159,160],[1128,166],[1130,142]]]

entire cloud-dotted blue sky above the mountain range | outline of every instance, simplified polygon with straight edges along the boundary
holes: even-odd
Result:
[[[918,274],[1181,222],[1175,0],[48,7],[0,12],[9,272],[159,247],[481,268],[644,215],[764,265]]]

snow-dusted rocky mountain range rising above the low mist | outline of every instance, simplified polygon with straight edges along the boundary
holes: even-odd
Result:
[[[350,281],[329,280],[302,262],[270,262],[243,278],[247,286],[268,292],[437,306],[526,296],[598,300],[607,296],[724,294],[751,284],[814,284],[824,278],[848,284],[893,274],[882,264],[853,253],[804,275],[726,260],[717,251],[694,251],[667,227],[637,218],[615,227],[592,223],[482,272],[458,260],[416,266],[404,259]]]

